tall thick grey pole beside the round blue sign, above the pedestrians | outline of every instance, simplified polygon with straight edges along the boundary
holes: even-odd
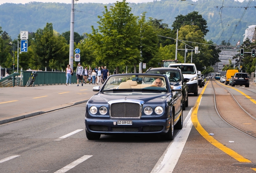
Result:
[[[69,40],[69,64],[73,70],[74,64],[74,0],[71,0],[71,17],[70,17],[70,40]]]

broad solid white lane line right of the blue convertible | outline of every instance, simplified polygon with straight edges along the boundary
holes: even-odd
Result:
[[[188,116],[184,120],[182,130],[180,130],[173,141],[171,141],[163,155],[157,161],[157,164],[152,169],[151,173],[172,173],[180,158],[180,155],[188,139],[190,130],[193,126],[190,118],[192,110],[193,108],[190,109]]]

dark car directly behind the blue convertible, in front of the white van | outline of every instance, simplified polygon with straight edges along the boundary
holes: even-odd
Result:
[[[171,67],[160,67],[160,68],[149,68],[146,73],[150,74],[164,74],[169,78],[169,83],[171,87],[173,86],[181,86],[182,87],[182,109],[185,110],[188,107],[188,78],[184,79],[184,76],[180,70],[180,68],[171,68]],[[170,78],[171,73],[173,74]]]

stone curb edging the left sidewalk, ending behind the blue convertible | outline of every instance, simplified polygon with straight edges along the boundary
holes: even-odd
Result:
[[[49,112],[57,111],[57,110],[64,109],[64,108],[67,108],[67,107],[72,107],[72,106],[75,106],[75,105],[80,105],[82,103],[86,103],[88,100],[89,99],[81,100],[81,101],[76,101],[76,102],[71,102],[71,103],[67,103],[67,104],[64,104],[64,105],[43,109],[41,111],[32,111],[32,112],[29,112],[29,113],[21,113],[21,114],[13,115],[13,116],[10,116],[10,117],[5,117],[5,118],[0,119],[0,125],[5,124],[5,123],[10,123],[12,121],[17,121],[17,120],[29,118],[29,117],[34,117],[36,115],[41,115],[41,114],[44,114],[44,113],[49,113]]]

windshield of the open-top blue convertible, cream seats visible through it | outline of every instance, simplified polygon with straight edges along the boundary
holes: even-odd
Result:
[[[103,85],[102,91],[161,91],[167,92],[166,80],[156,75],[111,75]]]

